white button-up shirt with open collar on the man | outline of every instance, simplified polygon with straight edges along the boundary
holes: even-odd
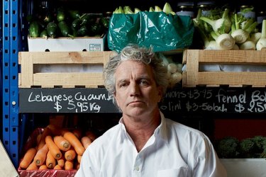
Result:
[[[75,177],[224,177],[209,138],[199,130],[164,117],[143,149],[137,152],[123,118],[84,152]]]

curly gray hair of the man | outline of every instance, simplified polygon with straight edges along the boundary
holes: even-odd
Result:
[[[114,76],[117,67],[123,61],[133,60],[149,64],[153,68],[153,76],[157,86],[162,87],[162,94],[165,94],[168,86],[167,68],[160,59],[159,55],[153,52],[152,47],[140,47],[138,45],[128,45],[116,56],[111,57],[103,70],[104,86],[111,96],[116,93],[116,78]],[[113,98],[116,104],[116,99]]]

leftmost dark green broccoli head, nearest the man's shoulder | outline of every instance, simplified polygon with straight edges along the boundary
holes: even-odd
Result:
[[[216,152],[219,158],[236,158],[239,141],[235,137],[223,137],[216,144]]]

